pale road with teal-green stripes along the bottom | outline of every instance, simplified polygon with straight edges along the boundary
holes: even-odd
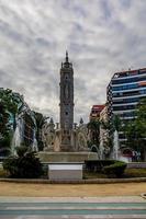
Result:
[[[142,197],[0,198],[0,219],[146,218]]]

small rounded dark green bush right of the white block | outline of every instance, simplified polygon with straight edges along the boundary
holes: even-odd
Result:
[[[104,166],[103,172],[109,177],[121,177],[126,169],[126,163],[123,161],[116,161],[115,163]]]

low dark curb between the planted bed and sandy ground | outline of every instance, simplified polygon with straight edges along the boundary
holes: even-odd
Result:
[[[38,184],[112,184],[112,183],[141,183],[146,177],[135,178],[93,178],[93,180],[41,180],[41,178],[0,178],[0,182],[9,183],[38,183]],[[145,194],[146,196],[146,194]]]

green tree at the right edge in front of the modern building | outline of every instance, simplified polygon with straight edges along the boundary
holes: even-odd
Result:
[[[135,112],[135,118],[124,126],[127,146],[146,159],[146,99],[142,99]]]

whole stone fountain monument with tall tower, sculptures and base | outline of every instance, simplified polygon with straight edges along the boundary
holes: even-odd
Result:
[[[90,159],[97,160],[97,153],[89,152],[87,140],[88,130],[83,120],[79,126],[74,124],[74,69],[69,62],[68,53],[60,68],[60,123],[49,124],[43,127],[45,151],[38,157],[43,162],[83,162]]]

